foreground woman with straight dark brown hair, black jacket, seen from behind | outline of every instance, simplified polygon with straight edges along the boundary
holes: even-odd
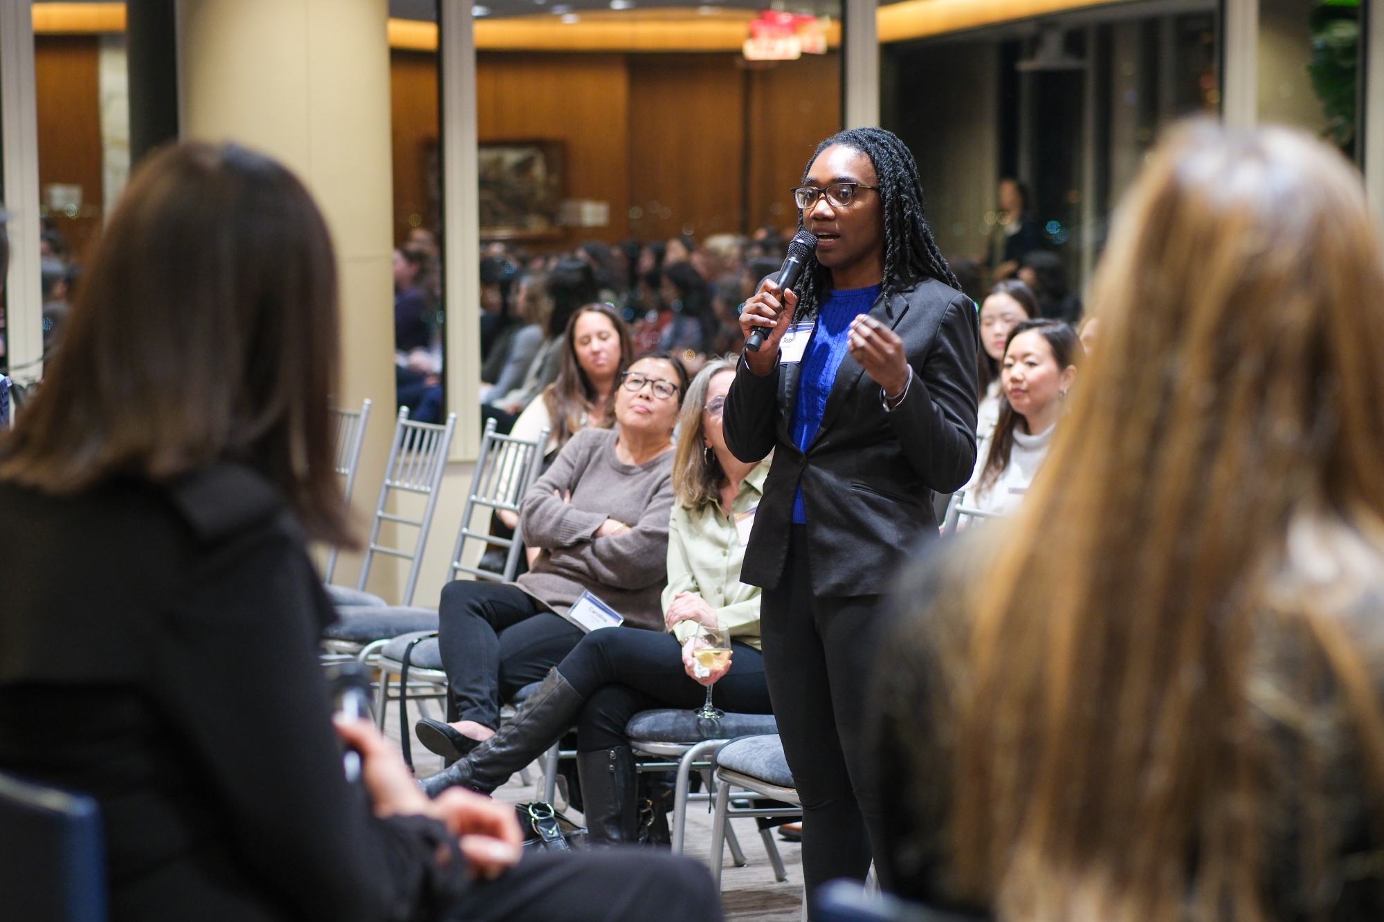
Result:
[[[116,922],[717,918],[692,864],[515,865],[512,807],[429,800],[372,724],[332,731],[304,543],[356,544],[336,341],[332,244],[288,170],[144,162],[0,440],[0,770],[98,802]]]

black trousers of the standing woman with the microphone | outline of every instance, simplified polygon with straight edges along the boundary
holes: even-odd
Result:
[[[803,800],[808,893],[833,878],[865,879],[871,844],[883,847],[864,732],[882,601],[814,597],[807,527],[794,525],[779,584],[760,602],[774,717]]]

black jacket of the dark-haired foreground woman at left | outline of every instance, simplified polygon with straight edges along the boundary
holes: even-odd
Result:
[[[440,822],[343,777],[332,609],[267,480],[0,483],[0,771],[98,800],[113,919],[412,919],[466,889]]]

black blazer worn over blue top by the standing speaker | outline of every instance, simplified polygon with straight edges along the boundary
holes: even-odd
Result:
[[[880,296],[871,316],[904,341],[913,381],[886,413],[880,388],[841,360],[807,453],[793,444],[800,364],[760,378],[742,361],[725,400],[725,442],[742,461],[771,450],[774,467],[740,579],[775,588],[787,554],[793,496],[803,485],[814,595],[873,595],[891,586],[908,551],[937,533],[933,491],[963,486],[976,467],[976,349],[966,295],[937,280]]]

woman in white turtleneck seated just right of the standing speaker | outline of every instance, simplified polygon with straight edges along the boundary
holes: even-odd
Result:
[[[1009,331],[999,422],[976,453],[966,505],[1001,515],[1019,508],[1048,454],[1082,354],[1077,332],[1060,320],[1026,320]]]

